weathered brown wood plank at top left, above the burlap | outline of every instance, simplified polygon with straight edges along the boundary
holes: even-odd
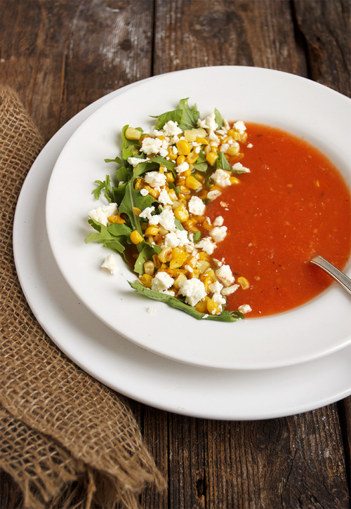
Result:
[[[152,0],[7,1],[1,81],[46,139],[108,92],[150,76]]]

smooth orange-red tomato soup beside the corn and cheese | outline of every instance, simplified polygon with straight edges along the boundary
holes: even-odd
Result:
[[[246,127],[241,162],[250,173],[223,189],[207,214],[223,216],[227,226],[216,258],[249,280],[248,289],[227,297],[227,309],[249,304],[249,318],[296,308],[333,282],[308,260],[320,254],[345,267],[351,212],[350,191],[321,152],[279,129]]]

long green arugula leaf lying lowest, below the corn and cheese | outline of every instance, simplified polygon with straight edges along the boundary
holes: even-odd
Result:
[[[128,283],[131,285],[131,287],[138,291],[138,293],[141,293],[142,295],[145,295],[148,298],[152,298],[153,300],[159,300],[160,302],[164,302],[168,305],[170,305],[172,308],[176,308],[180,311],[186,312],[188,315],[191,315],[192,317],[201,320],[216,320],[217,322],[236,322],[238,319],[243,319],[244,315],[239,311],[223,311],[220,315],[204,315],[204,313],[201,313],[197,311],[192,306],[185,304],[183,300],[180,300],[179,298],[173,297],[171,295],[167,295],[167,293],[161,293],[159,291],[150,290],[150,288],[147,288],[143,284],[138,281],[138,279],[131,283],[128,281]]]

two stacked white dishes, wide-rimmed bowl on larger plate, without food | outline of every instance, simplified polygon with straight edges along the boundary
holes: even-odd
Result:
[[[291,74],[204,67],[114,91],[71,119],[44,147],[22,187],[13,244],[22,289],[39,323],[82,369],[160,409],[247,420],[297,414],[351,394],[350,298],[336,283],[300,308],[235,323],[197,321],[100,268],[109,254],[84,244],[94,180],[113,171],[122,126],[182,98],[201,116],[270,124],[305,138],[350,185],[351,101]],[[150,118],[150,126],[152,119]],[[326,133],[328,137],[326,138]],[[350,272],[350,264],[346,272]],[[154,308],[150,313],[149,308]]]

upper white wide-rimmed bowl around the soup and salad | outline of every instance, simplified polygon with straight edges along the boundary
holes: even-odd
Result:
[[[114,331],[180,362],[221,369],[267,369],[317,359],[351,341],[350,297],[337,284],[302,307],[273,317],[197,321],[132,291],[135,275],[100,269],[110,253],[84,244],[87,213],[98,206],[93,182],[113,168],[122,126],[151,126],[152,114],[189,97],[201,117],[215,107],[227,119],[284,128],[319,147],[350,183],[351,100],[292,74],[253,67],[204,67],[155,77],[112,98],[72,135],[53,169],[46,199],[48,237],[58,266],[79,299]],[[326,136],[326,133],[328,135]],[[350,270],[350,266],[348,267]],[[152,315],[147,308],[156,309]],[[336,316],[337,310],[337,316]]]

